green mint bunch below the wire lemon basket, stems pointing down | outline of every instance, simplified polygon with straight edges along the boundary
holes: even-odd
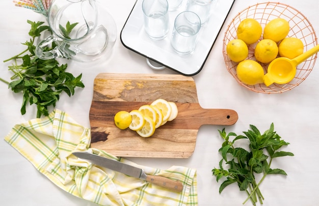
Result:
[[[272,123],[269,130],[260,134],[256,126],[250,125],[251,130],[243,132],[244,135],[236,135],[235,133],[226,134],[225,128],[219,133],[225,140],[222,147],[219,149],[222,155],[222,160],[219,162],[219,169],[212,169],[212,174],[216,176],[217,182],[226,177],[226,180],[221,184],[219,193],[225,187],[232,183],[237,183],[241,191],[246,191],[248,197],[243,202],[245,204],[249,199],[253,205],[260,201],[263,203],[259,185],[268,174],[283,174],[287,175],[282,169],[272,169],[271,163],[274,158],[283,156],[294,156],[291,152],[278,151],[282,146],[288,145],[281,137],[274,132],[274,124]],[[230,140],[230,137],[234,137]],[[240,139],[249,140],[249,150],[241,147],[235,147],[235,142]],[[228,166],[225,169],[224,166]],[[260,181],[257,183],[255,174],[263,174]]]

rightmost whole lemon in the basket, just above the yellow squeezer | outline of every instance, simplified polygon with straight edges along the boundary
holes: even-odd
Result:
[[[280,42],[278,49],[280,57],[294,59],[304,53],[304,44],[298,38],[288,37]]]

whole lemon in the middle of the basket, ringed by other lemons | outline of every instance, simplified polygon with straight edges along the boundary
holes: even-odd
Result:
[[[262,39],[255,48],[255,58],[262,63],[273,61],[278,55],[278,46],[271,39]]]

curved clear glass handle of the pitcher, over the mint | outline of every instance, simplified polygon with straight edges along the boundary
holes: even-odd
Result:
[[[59,50],[58,46],[54,49],[45,51],[45,48],[52,44],[52,42],[57,41],[57,38],[53,35],[45,38],[36,46],[36,56],[40,59],[55,59],[55,58],[63,58],[64,55]]]

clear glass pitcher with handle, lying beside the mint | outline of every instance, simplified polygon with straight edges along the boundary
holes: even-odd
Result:
[[[112,16],[96,0],[54,0],[48,10],[52,35],[36,47],[41,59],[68,58],[87,62],[109,52],[117,36]],[[47,51],[45,48],[57,46]]]

